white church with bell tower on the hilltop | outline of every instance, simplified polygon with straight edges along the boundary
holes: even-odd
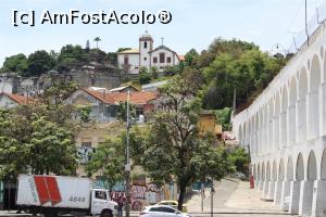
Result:
[[[153,48],[153,38],[148,31],[139,37],[139,48],[129,49],[117,53],[118,68],[129,74],[137,75],[140,67],[158,67],[159,72],[166,66],[178,65],[184,56],[162,44]]]

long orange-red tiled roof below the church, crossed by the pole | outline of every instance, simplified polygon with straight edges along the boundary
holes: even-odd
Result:
[[[88,89],[83,89],[88,94],[92,95],[93,98],[100,100],[101,102],[115,104],[120,102],[127,101],[128,94],[124,92],[99,92]],[[158,98],[158,92],[154,91],[141,91],[141,92],[130,92],[130,102],[135,105],[147,104],[151,100]]]

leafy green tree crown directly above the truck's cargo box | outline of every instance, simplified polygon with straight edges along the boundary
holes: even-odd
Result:
[[[72,131],[45,117],[35,117],[30,126],[27,158],[33,174],[74,174],[77,162]]]

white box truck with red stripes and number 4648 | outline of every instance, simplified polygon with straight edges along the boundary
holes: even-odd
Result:
[[[78,177],[20,175],[16,205],[46,217],[117,214],[117,203],[111,201],[108,190],[91,189],[90,179]]]

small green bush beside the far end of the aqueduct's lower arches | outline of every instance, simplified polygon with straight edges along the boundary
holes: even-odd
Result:
[[[235,148],[230,152],[229,158],[231,163],[235,165],[237,171],[240,171],[247,176],[249,175],[248,165],[250,163],[250,156],[243,148],[240,146]]]

